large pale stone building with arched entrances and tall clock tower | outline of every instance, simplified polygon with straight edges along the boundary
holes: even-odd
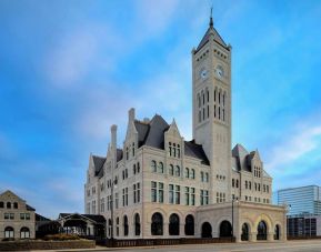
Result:
[[[210,19],[191,52],[193,140],[174,120],[138,120],[130,109],[121,149],[112,125],[107,157],[90,155],[84,209],[104,215],[107,236],[285,239],[259,152],[231,151],[231,51]]]

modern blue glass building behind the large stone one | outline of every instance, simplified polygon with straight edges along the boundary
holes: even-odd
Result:
[[[279,190],[275,198],[275,203],[289,205],[288,215],[321,214],[321,188],[318,185]]]

